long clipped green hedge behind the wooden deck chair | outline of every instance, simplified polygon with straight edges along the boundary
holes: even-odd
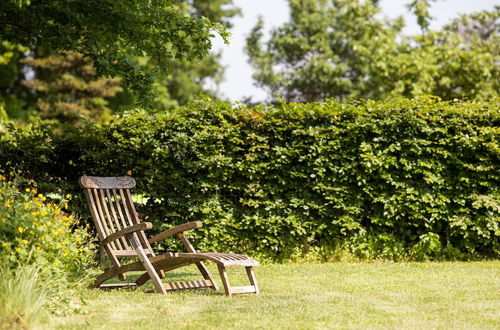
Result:
[[[132,173],[156,230],[202,220],[193,235],[203,250],[496,258],[498,101],[202,100],[102,126],[11,128],[0,162],[71,193],[83,174]]]

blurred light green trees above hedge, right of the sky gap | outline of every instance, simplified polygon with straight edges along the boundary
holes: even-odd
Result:
[[[500,7],[428,30],[429,0],[409,3],[422,34],[382,19],[377,1],[290,0],[290,19],[263,42],[263,21],[247,38],[254,79],[294,102],[326,98],[443,99],[498,96]]]

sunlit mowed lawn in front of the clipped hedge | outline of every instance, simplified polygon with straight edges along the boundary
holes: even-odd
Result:
[[[218,273],[211,267],[212,274]],[[231,269],[236,284],[244,271]],[[174,274],[197,278],[196,268]],[[61,329],[500,329],[500,261],[263,265],[261,294],[92,290]],[[220,282],[220,281],[219,281]]]

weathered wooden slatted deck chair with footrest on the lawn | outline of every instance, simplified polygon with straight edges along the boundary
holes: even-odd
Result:
[[[151,229],[152,224],[142,222],[136,212],[130,192],[130,189],[135,187],[133,178],[82,176],[79,181],[87,197],[100,248],[111,261],[111,267],[97,277],[92,287],[139,286],[151,279],[158,293],[203,287],[218,290],[217,283],[203,264],[204,260],[209,260],[217,264],[226,295],[259,293],[253,271],[253,266],[259,264],[256,260],[241,254],[196,252],[184,232],[200,228],[202,223],[199,221],[188,222],[147,239],[144,231]],[[169,237],[179,238],[187,253],[167,252],[155,255],[150,244]],[[120,259],[130,257],[139,258],[139,261],[120,264]],[[165,272],[190,264],[197,266],[203,280],[169,283],[161,281],[161,278],[165,277]],[[232,287],[229,284],[226,267],[232,266],[245,267],[250,285]],[[103,284],[114,276],[124,281],[125,273],[130,271],[145,271],[145,273],[135,283]]]

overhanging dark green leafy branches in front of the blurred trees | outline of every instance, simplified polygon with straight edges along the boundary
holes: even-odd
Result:
[[[98,75],[119,76],[143,95],[155,74],[170,72],[172,60],[200,60],[214,32],[227,37],[223,24],[190,15],[192,6],[215,12],[200,0],[4,0],[0,37],[32,50],[81,53],[93,60]],[[141,57],[154,70],[141,66]]]

